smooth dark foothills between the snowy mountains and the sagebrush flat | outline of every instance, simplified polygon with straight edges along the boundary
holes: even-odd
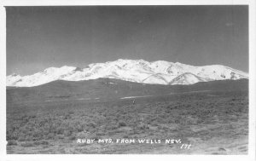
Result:
[[[170,95],[205,90],[248,90],[248,80],[221,80],[192,85],[132,83],[119,79],[98,78],[85,81],[57,80],[36,87],[7,88],[8,102],[111,99],[143,95]]]

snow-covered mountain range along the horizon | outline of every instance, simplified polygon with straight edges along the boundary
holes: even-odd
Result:
[[[113,78],[134,83],[149,84],[194,84],[214,80],[248,78],[247,72],[222,65],[190,66],[165,60],[114,60],[93,63],[84,69],[75,66],[49,67],[43,72],[20,76],[7,76],[7,86],[32,87],[56,80],[83,81],[98,78]]]

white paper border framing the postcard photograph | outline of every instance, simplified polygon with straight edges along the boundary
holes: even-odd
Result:
[[[255,160],[255,0],[2,0],[0,2],[0,160]],[[6,14],[4,6],[74,5],[248,5],[249,6],[249,144],[248,155],[88,155],[88,154],[6,154]]]

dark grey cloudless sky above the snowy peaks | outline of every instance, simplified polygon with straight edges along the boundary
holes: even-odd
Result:
[[[248,71],[247,6],[7,7],[7,74],[117,59]]]

